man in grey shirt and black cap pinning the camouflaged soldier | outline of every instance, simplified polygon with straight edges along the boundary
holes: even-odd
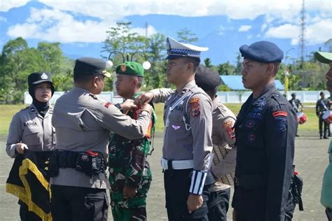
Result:
[[[95,94],[111,74],[102,59],[83,57],[74,67],[75,87],[55,104],[57,155],[50,160],[53,220],[107,220],[109,180],[104,173],[109,132],[126,138],[143,138],[151,119],[151,106],[142,106],[138,119],[121,113],[133,101],[111,104]],[[57,171],[58,167],[58,171]]]

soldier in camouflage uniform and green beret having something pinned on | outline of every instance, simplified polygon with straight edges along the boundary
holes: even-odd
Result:
[[[136,99],[141,94],[144,70],[137,62],[125,62],[116,67],[116,90],[124,99]],[[139,107],[127,115],[136,119]],[[151,185],[151,169],[146,161],[151,136],[155,129],[153,111],[146,136],[130,140],[111,134],[109,144],[109,181],[114,220],[146,220],[146,194]]]

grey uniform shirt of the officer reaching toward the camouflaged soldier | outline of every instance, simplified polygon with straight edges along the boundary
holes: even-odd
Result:
[[[137,120],[124,115],[113,104],[99,100],[81,87],[62,95],[55,103],[53,125],[57,130],[56,149],[101,152],[107,159],[109,132],[138,139],[145,136],[150,115],[143,111]],[[75,169],[60,168],[58,176],[51,178],[53,185],[92,187],[105,189],[109,180],[104,173],[86,176]]]

